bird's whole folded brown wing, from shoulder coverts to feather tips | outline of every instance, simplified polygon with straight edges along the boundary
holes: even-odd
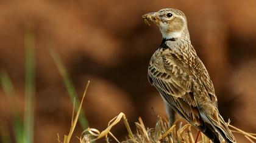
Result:
[[[187,64],[180,65],[182,61],[173,58],[177,57],[163,56],[165,70],[162,71],[149,65],[149,81],[180,116],[199,126],[202,122],[192,92],[193,71]]]

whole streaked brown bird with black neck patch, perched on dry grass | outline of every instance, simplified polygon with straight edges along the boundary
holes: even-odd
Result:
[[[157,25],[163,37],[150,59],[148,79],[163,98],[169,127],[177,113],[215,143],[236,142],[219,113],[208,71],[191,44],[185,14],[164,8],[142,18]]]

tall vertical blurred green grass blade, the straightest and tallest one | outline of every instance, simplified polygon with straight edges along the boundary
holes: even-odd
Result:
[[[35,94],[35,39],[30,28],[25,32],[25,116],[24,116],[24,142],[32,143],[34,138],[34,94]]]

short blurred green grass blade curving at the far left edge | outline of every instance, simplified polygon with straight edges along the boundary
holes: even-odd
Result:
[[[18,114],[15,103],[13,102],[14,90],[13,90],[12,82],[10,81],[9,76],[5,72],[0,73],[0,81],[1,81],[4,94],[9,98],[9,102],[10,102],[9,105],[12,110],[12,120],[13,120],[12,122],[13,122],[13,130],[14,130],[16,142],[23,143],[24,127],[23,127],[23,123],[21,121],[20,115]]]

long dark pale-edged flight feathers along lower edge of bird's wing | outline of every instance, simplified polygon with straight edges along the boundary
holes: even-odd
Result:
[[[167,73],[161,73],[157,70],[152,74],[149,73],[149,81],[180,116],[195,126],[201,124],[199,110],[194,101],[193,93],[185,90],[187,87],[181,87],[180,82],[172,79]]]

